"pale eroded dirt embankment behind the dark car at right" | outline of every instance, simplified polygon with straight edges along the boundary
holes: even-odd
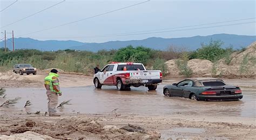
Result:
[[[177,60],[166,62],[168,77],[183,77],[177,67]],[[256,42],[246,50],[235,52],[213,63],[208,60],[193,59],[187,62],[193,71],[192,77],[227,77],[227,78],[255,78],[256,77]]]

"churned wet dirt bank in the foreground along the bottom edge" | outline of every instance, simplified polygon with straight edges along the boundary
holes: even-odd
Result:
[[[218,122],[211,117],[188,119],[182,115],[175,118],[134,114],[61,117],[22,114],[0,116],[0,139],[253,139],[256,130],[255,124],[238,123],[239,118]]]

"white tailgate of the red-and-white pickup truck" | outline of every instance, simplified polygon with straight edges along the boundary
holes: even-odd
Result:
[[[160,79],[160,70],[129,71],[131,79]]]

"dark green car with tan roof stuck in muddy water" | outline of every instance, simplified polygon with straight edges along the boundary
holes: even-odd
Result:
[[[226,85],[217,78],[190,78],[164,86],[166,97],[184,97],[192,100],[239,100],[242,91],[238,86]]]

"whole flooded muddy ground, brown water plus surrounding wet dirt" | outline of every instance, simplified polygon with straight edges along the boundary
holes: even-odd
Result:
[[[0,108],[0,139],[29,134],[44,139],[256,139],[255,79],[224,79],[242,88],[240,101],[206,102],[164,97],[163,86],[179,79],[165,80],[157,91],[139,87],[121,92],[114,86],[94,89],[92,77],[60,74],[59,101],[72,99],[72,105],[58,109],[62,116],[50,117],[45,115],[42,82],[46,73],[12,79],[3,75],[0,85],[6,88],[6,98],[22,99],[15,107]],[[32,105],[24,108],[26,100]]]

